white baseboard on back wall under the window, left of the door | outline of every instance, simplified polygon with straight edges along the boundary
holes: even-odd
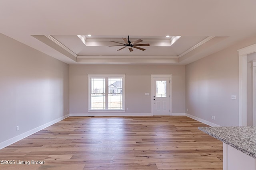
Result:
[[[104,113],[70,113],[69,116],[152,116],[152,113],[124,113],[124,112],[120,112],[120,113],[108,113],[108,112],[104,112]]]

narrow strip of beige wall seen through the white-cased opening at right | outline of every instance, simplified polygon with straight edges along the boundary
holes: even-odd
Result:
[[[247,55],[247,125],[252,126],[252,62],[256,53]]]

